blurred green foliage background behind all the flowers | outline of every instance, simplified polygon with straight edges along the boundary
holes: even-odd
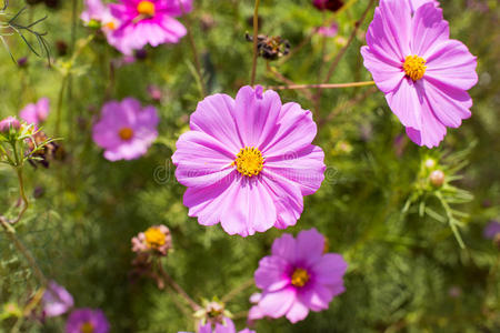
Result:
[[[24,6],[10,2],[11,13]],[[369,1],[346,1],[337,13],[317,11],[308,0],[261,2],[261,33],[288,39],[293,50],[269,65],[259,59],[257,82],[273,85],[283,83],[280,75],[296,83],[324,78]],[[57,134],[60,104],[58,134],[66,151],[66,159],[49,169],[27,167],[32,205],[17,226],[19,236],[43,272],[71,292],[77,306],[104,311],[112,332],[192,331],[193,320],[178,310],[174,295],[159,291],[150,280],[131,279],[131,238],[150,225],[168,225],[174,252],[167,269],[199,301],[221,297],[250,279],[283,231],[241,239],[227,235],[219,225],[201,226],[187,215],[184,188],[174,179],[170,158],[200,100],[188,39],[148,48],[146,59],[121,65],[120,54],[98,38],[82,49],[66,75],[72,50],[93,32],[78,19],[82,1],[76,1],[76,12],[72,1],[60,4],[29,7],[20,18],[31,22],[48,16],[38,29],[48,32],[50,65],[17,36],[7,41],[16,59],[27,57],[27,65],[13,63],[7,50],[0,52],[0,118],[50,98],[44,131]],[[296,325],[286,319],[264,320],[257,324],[258,332],[500,332],[500,249],[482,235],[489,221],[500,218],[500,4],[454,0],[441,1],[441,7],[452,38],[478,57],[480,79],[470,91],[472,118],[449,130],[439,149],[410,142],[383,94],[373,88],[324,90],[320,105],[308,92],[280,92],[283,101],[318,111],[316,144],[324,150],[328,165],[321,189],[306,198],[297,226],[284,232],[317,228],[328,238],[330,251],[344,255],[349,270],[346,293],[328,311],[311,312]],[[250,0],[194,1],[189,19],[209,93],[234,95],[249,83],[252,47],[244,34],[252,30],[252,12]],[[371,80],[359,53],[371,18],[372,10],[331,82]],[[314,33],[333,21],[339,24],[337,37]],[[150,84],[161,89],[161,101],[148,94]],[[106,100],[129,95],[158,108],[160,135],[140,160],[111,163],[92,142],[91,125]],[[423,165],[428,159],[437,161],[433,169]],[[456,170],[461,162],[467,165]],[[443,170],[448,181],[460,178],[437,190],[428,180],[434,169]],[[43,194],[34,198],[36,189]],[[459,218],[466,249],[453,235],[438,192],[467,214]],[[14,173],[0,167],[0,211],[17,200]],[[0,234],[0,306],[26,305],[38,286],[23,259]],[[246,326],[253,292],[257,289],[249,287],[227,304],[239,329]],[[9,332],[14,322],[4,319],[0,330]],[[44,324],[24,319],[21,332],[62,332],[63,323],[63,317]]]

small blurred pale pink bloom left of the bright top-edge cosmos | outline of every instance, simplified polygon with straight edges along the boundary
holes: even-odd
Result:
[[[99,22],[108,42],[111,46],[117,44],[119,41],[112,32],[116,31],[121,23],[118,18],[111,14],[109,4],[102,3],[101,0],[86,0],[84,6],[86,10],[81,13],[80,19],[88,26],[90,26],[92,21]]]

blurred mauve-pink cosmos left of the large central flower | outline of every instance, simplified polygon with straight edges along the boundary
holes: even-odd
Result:
[[[101,113],[93,125],[92,139],[106,150],[104,158],[109,161],[138,159],[158,137],[160,119],[154,107],[142,109],[138,100],[127,98],[106,103]]]

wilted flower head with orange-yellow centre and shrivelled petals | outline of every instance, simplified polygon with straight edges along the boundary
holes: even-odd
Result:
[[[132,251],[137,253],[153,252],[167,255],[172,249],[172,236],[166,225],[153,225],[132,239]]]

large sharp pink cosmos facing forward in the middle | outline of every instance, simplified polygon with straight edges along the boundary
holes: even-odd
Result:
[[[206,98],[190,124],[172,157],[190,216],[242,236],[297,223],[326,169],[310,111],[247,85]]]

